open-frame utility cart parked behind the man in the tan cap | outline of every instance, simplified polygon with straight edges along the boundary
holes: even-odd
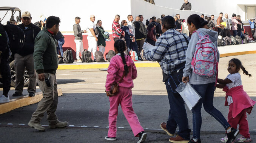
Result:
[[[4,15],[3,17],[1,16],[0,22],[5,25],[7,21],[9,20],[14,20],[14,17],[16,16],[16,21],[20,22],[21,21],[21,10],[19,8],[15,7],[8,7],[8,6],[3,6],[0,7],[0,15]],[[10,19],[5,18],[5,17],[10,17]],[[10,57],[10,69],[11,69],[11,86],[15,87],[15,78],[16,78],[16,72],[14,69],[14,59]],[[29,83],[29,75],[28,71],[25,69],[24,72],[24,86],[28,86]],[[0,82],[2,82],[2,76],[0,75]]]

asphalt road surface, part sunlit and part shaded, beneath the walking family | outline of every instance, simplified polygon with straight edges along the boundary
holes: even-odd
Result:
[[[219,63],[219,78],[228,75],[227,63],[232,58],[242,61],[247,71],[256,74],[256,54],[224,57]],[[168,119],[168,103],[165,85],[162,82],[162,70],[160,68],[137,68],[138,77],[134,80],[133,108],[141,125],[145,129],[160,129],[160,123]],[[240,72],[244,90],[251,99],[256,100],[255,76],[249,78]],[[68,121],[63,129],[46,129],[46,132],[37,132],[26,126],[37,104],[28,105],[0,115],[0,142],[109,142],[104,139],[107,134],[109,101],[105,94],[106,71],[99,69],[58,70],[57,83],[62,89],[63,96],[59,96],[57,116],[61,121]],[[12,88],[13,89],[13,88]],[[225,92],[216,89],[214,94],[214,106],[227,117],[228,107],[224,106]],[[256,139],[256,111],[253,109],[247,119],[253,140]],[[189,126],[192,127],[192,113],[187,108]],[[11,123],[13,125],[6,125]],[[21,126],[19,124],[25,124]],[[42,125],[48,125],[46,117]],[[100,128],[82,128],[81,126]],[[117,118],[117,141],[136,142],[137,138],[129,130],[122,109],[119,108]],[[122,129],[125,128],[125,129]],[[202,131],[208,131],[201,135],[203,143],[218,143],[219,138],[225,132],[223,126],[202,108]],[[148,132],[147,142],[166,143],[169,136],[162,131]],[[256,142],[256,140],[255,140]]]

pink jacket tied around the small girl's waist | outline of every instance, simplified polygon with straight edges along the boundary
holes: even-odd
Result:
[[[233,113],[232,117],[236,117],[242,110],[248,109],[247,113],[250,114],[253,109],[253,105],[256,101],[253,101],[249,95],[244,91],[243,86],[236,86],[228,89],[227,86],[223,88],[226,92],[225,106],[228,106],[227,97],[231,96],[233,99]]]

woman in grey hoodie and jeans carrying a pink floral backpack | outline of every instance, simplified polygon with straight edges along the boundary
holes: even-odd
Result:
[[[202,117],[201,117],[202,104],[204,105],[204,110],[208,114],[213,116],[225,128],[227,137],[228,137],[227,143],[231,143],[232,141],[234,141],[239,131],[234,128],[231,128],[230,124],[227,122],[227,120],[221,114],[221,112],[213,106],[217,72],[213,73],[211,77],[206,77],[206,76],[195,73],[194,71],[192,71],[192,68],[191,68],[191,63],[193,62],[192,59],[196,58],[194,57],[194,53],[196,52],[196,46],[198,45],[197,43],[205,35],[208,35],[209,40],[208,39],[207,40],[208,42],[211,43],[209,44],[209,46],[213,45],[212,48],[214,48],[214,53],[217,52],[216,53],[217,57],[215,57],[214,55],[214,57],[216,58],[215,60],[219,61],[220,56],[219,56],[219,51],[217,49],[218,34],[213,30],[203,28],[205,25],[207,25],[207,21],[205,21],[204,18],[200,18],[200,16],[197,14],[190,15],[187,21],[188,21],[188,29],[192,36],[191,36],[190,43],[188,45],[188,49],[186,51],[186,64],[185,64],[185,68],[183,69],[184,74],[182,77],[182,82],[184,83],[189,82],[191,86],[197,91],[197,93],[199,93],[199,95],[202,97],[192,109],[193,138],[190,140],[189,143],[201,143],[200,128],[202,125]],[[207,41],[204,41],[204,42],[207,42]],[[203,56],[205,57],[205,54],[203,54]],[[204,64],[205,63],[202,63],[200,65],[204,65]],[[217,68],[217,64],[215,67],[210,67],[210,65],[207,65],[205,66],[205,68],[204,66],[201,67],[200,65],[197,66],[199,69],[196,69],[196,70],[205,71],[206,69]]]

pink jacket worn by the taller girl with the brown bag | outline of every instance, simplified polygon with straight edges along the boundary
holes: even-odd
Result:
[[[120,82],[120,87],[133,88],[133,80],[137,77],[137,69],[134,65],[133,60],[131,60],[130,56],[125,55],[126,65],[128,66],[129,73],[123,78]],[[108,66],[108,75],[106,79],[106,91],[110,91],[111,84],[118,83],[122,78],[124,68],[124,64],[121,56],[116,55],[111,58],[109,66]]]

